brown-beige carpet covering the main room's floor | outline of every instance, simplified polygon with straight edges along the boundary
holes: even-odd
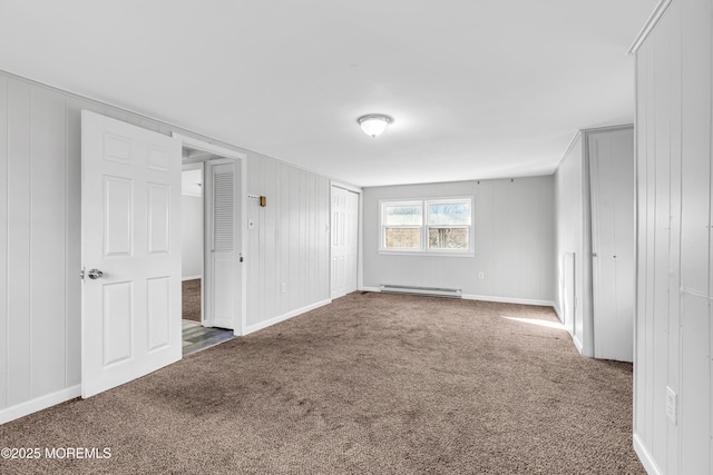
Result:
[[[524,321],[504,317],[521,318]],[[0,426],[8,473],[637,474],[632,365],[551,309],[352,294],[88,400]]]

